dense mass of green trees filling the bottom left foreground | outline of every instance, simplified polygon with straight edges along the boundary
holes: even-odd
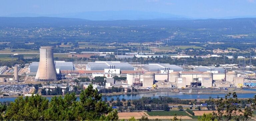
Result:
[[[118,116],[89,85],[81,91],[80,101],[76,101],[75,93],[67,93],[64,98],[54,96],[50,102],[40,95],[20,96],[7,107],[2,120],[118,120]]]

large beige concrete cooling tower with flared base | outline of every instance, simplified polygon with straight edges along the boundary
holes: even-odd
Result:
[[[41,47],[40,61],[36,73],[36,81],[57,81],[57,72],[53,61],[53,47]]]

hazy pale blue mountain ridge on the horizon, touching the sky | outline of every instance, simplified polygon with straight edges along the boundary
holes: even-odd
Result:
[[[143,12],[143,11],[88,11],[79,13],[65,13],[65,14],[11,14],[6,17],[61,17],[61,18],[79,18],[87,20],[191,20],[190,17],[160,13],[160,12]]]

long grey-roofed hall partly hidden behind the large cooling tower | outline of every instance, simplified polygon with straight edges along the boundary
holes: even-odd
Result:
[[[65,70],[75,70],[74,64],[72,62],[65,62],[65,61],[54,61],[55,68],[61,71]],[[28,66],[29,73],[36,73],[38,70],[39,62],[32,62]]]

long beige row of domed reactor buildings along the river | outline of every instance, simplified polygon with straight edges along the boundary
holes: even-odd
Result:
[[[144,74],[127,74],[127,84],[139,87],[150,87],[156,84],[159,88],[186,87],[241,87],[244,78],[237,73],[212,73],[209,71],[173,71],[168,73],[146,72]]]

